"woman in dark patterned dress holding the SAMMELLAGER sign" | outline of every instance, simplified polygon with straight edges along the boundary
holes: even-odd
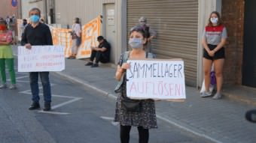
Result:
[[[117,88],[120,88],[120,94],[117,97],[114,121],[120,123],[120,141],[128,143],[130,140],[131,127],[137,127],[139,131],[139,143],[147,143],[149,139],[149,129],[157,128],[157,117],[155,112],[154,100],[140,100],[141,109],[138,111],[129,111],[123,108],[123,99],[126,97],[126,70],[130,68],[130,64],[126,63],[127,57],[130,60],[145,60],[147,53],[144,45],[147,43],[145,31],[142,27],[136,26],[130,30],[129,44],[132,50],[128,55],[123,53],[117,65],[116,79],[120,81]],[[116,88],[116,89],[117,89]],[[117,91],[117,90],[115,90]]]

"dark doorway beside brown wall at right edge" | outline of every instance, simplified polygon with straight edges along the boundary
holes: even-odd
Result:
[[[256,88],[256,1],[245,0],[242,85]]]

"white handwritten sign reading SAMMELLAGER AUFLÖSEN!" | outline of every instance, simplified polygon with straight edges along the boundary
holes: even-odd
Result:
[[[185,99],[184,61],[129,60],[126,94],[133,99]]]

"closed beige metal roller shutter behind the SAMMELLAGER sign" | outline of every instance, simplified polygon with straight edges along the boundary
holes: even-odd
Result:
[[[140,16],[157,31],[157,58],[182,58],[187,85],[197,85],[198,0],[128,0],[127,33]],[[128,37],[129,38],[129,37]]]

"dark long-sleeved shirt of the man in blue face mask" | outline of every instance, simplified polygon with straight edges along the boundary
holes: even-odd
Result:
[[[27,25],[21,40],[23,46],[26,43],[30,43],[32,46],[53,45],[50,28],[41,22],[35,28],[30,24]]]

